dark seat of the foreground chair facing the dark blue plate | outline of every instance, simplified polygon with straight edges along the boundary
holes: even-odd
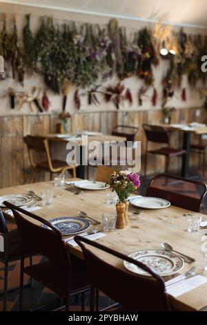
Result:
[[[28,266],[24,269],[24,272],[61,297],[66,298],[68,295],[68,288],[66,286],[67,277],[71,279],[70,293],[90,287],[85,261],[72,255],[70,259],[72,263],[72,275],[68,274],[66,266],[62,266],[53,261]]]

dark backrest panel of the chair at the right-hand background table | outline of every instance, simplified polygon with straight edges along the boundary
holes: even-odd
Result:
[[[167,144],[170,143],[169,132],[164,127],[157,127],[151,124],[143,124],[142,127],[148,141]]]

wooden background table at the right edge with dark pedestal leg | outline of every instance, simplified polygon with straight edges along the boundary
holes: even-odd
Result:
[[[173,127],[173,124],[155,124],[157,127],[165,127],[169,131],[181,131],[184,133],[183,138],[183,149],[186,150],[186,155],[183,155],[182,158],[182,167],[181,167],[181,176],[186,178],[189,176],[189,160],[190,160],[190,136],[191,134],[201,136],[202,134],[207,134],[207,126],[206,127],[188,127],[188,129],[184,129],[183,127],[179,127],[177,124],[176,127]],[[186,126],[187,127],[187,126]]]

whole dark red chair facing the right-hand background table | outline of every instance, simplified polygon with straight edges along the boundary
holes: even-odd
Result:
[[[151,124],[143,124],[143,129],[146,135],[146,154],[144,163],[144,176],[146,176],[148,154],[161,155],[166,158],[165,172],[168,174],[170,157],[183,156],[186,154],[184,149],[175,149],[170,147],[170,133],[164,127],[157,127]],[[160,143],[166,145],[159,149],[148,150],[148,142]]]

